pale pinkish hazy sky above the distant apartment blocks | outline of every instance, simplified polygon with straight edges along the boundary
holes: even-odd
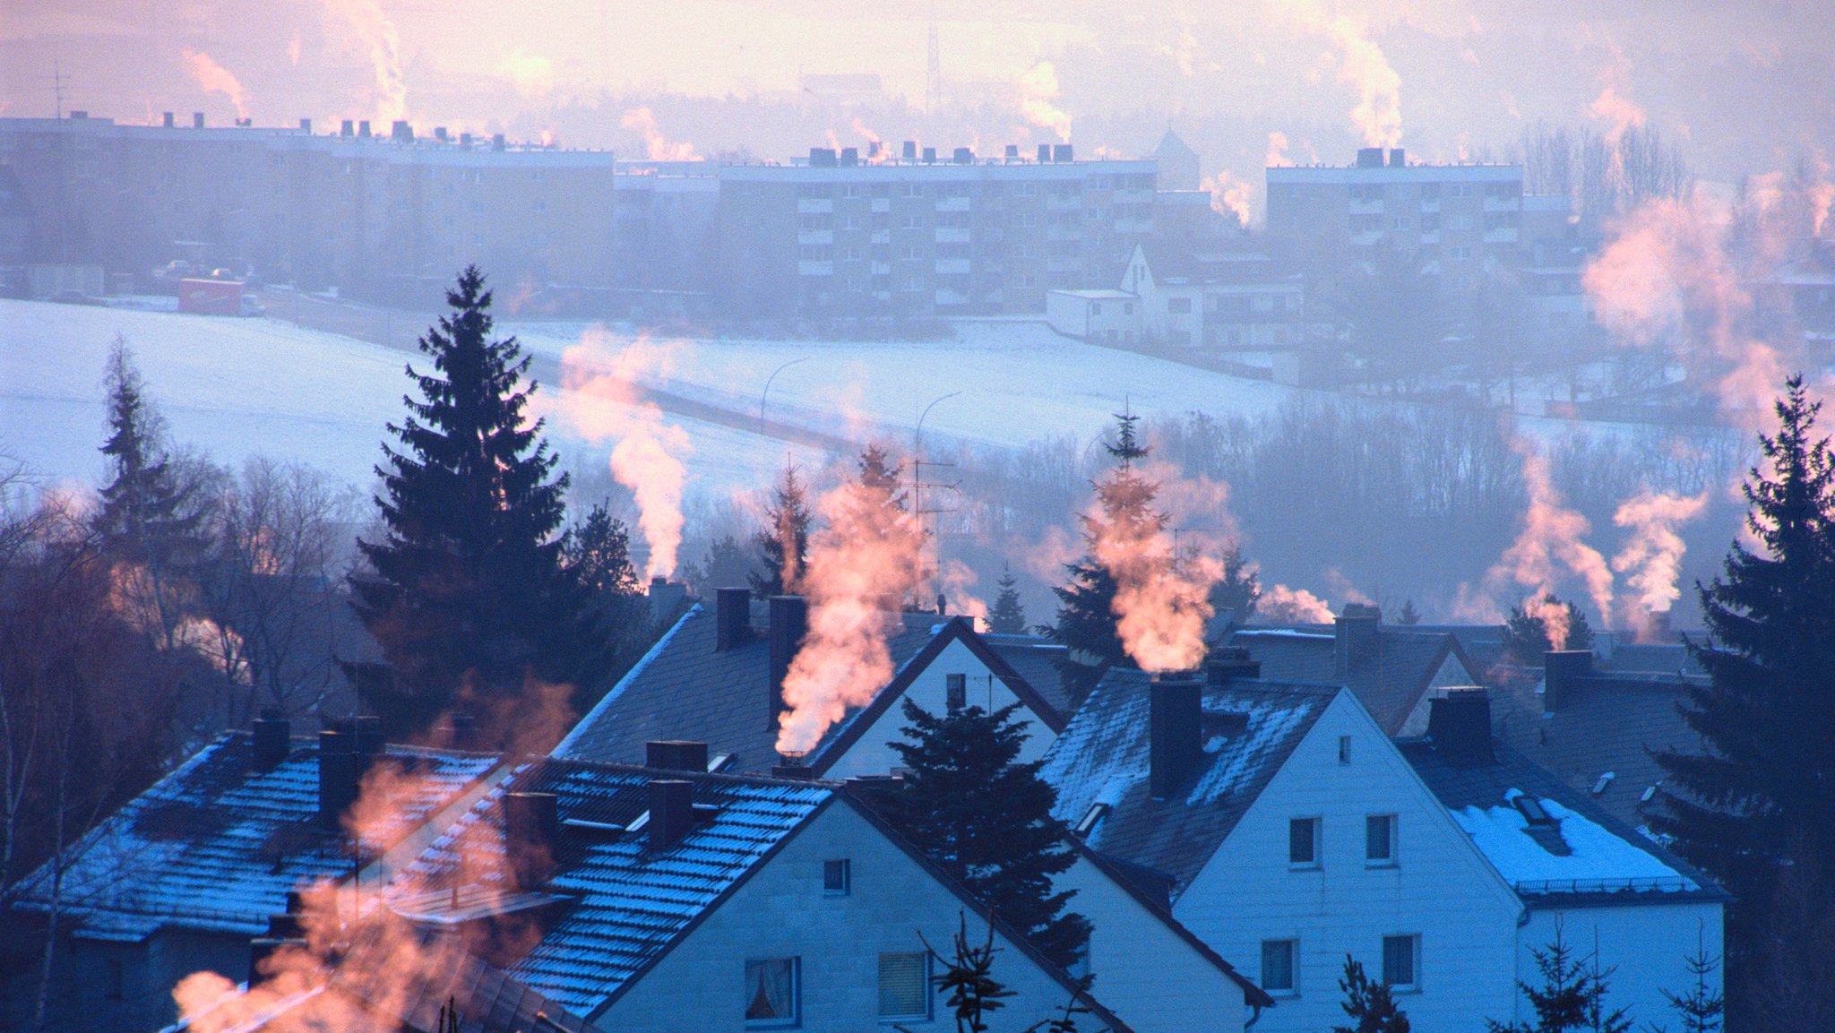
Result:
[[[53,62],[70,105],[121,121],[228,121],[240,101],[273,125],[406,112],[523,128],[602,88],[795,97],[804,72],[877,72],[921,103],[930,22],[949,97],[1017,108],[1020,79],[1051,62],[1055,95],[1037,77],[1031,94],[1088,125],[1118,112],[1336,125],[1457,158],[1538,117],[1648,117],[1710,174],[1826,152],[1835,136],[1826,0],[0,0],[0,105],[50,114]],[[580,143],[628,145],[617,121],[604,128]],[[743,141],[730,130],[719,145]],[[1321,158],[1341,160],[1330,145]]]

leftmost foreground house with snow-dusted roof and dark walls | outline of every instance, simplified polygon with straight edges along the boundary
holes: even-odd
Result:
[[[495,754],[384,745],[374,719],[292,738],[264,717],[218,736],[66,850],[61,877],[46,862],[17,888],[7,923],[42,923],[53,897],[59,912],[48,1024],[172,1022],[172,985],[204,969],[248,972],[250,938],[290,892],[325,881],[350,892],[352,873],[356,895],[380,888],[420,853],[417,833],[499,767]],[[363,796],[385,805],[352,839],[343,815],[365,785],[387,785]],[[7,983],[9,1027],[29,1024],[35,976]]]

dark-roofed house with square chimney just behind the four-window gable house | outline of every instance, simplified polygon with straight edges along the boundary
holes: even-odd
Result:
[[[1354,602],[1330,628],[1240,628],[1229,646],[1268,681],[1343,684],[1391,736],[1426,732],[1433,692],[1479,684],[1485,673],[1453,635],[1384,626],[1380,607]]]

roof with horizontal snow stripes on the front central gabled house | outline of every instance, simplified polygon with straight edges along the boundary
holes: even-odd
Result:
[[[567,828],[569,820],[629,826],[650,811],[655,776],[657,771],[642,767],[527,761],[409,864],[393,895],[450,890],[479,873],[486,884],[503,886],[503,793],[556,794],[563,831],[556,873],[545,890],[573,903],[543,923],[541,941],[508,972],[591,1015],[835,794],[833,785],[818,782],[694,776],[695,805],[712,811],[661,853],[648,848],[642,831],[600,835]],[[459,873],[461,857],[466,875]]]

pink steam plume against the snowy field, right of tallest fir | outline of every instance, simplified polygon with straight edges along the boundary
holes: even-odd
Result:
[[[587,330],[562,354],[563,398],[574,426],[598,442],[615,437],[611,473],[637,495],[637,527],[650,545],[646,576],[670,576],[683,543],[683,459],[694,451],[688,431],[662,422],[662,409],[644,398],[637,382],[666,376],[673,345],[639,336],[613,356],[611,334]]]

